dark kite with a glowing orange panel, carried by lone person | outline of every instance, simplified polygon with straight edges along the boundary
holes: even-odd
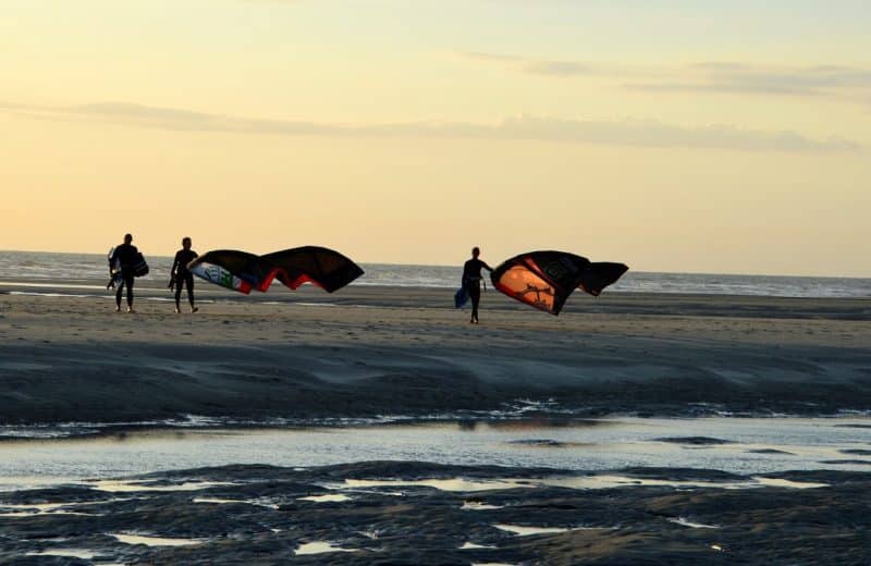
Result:
[[[628,269],[566,251],[528,251],[503,261],[490,279],[507,296],[556,316],[576,288],[599,296]]]

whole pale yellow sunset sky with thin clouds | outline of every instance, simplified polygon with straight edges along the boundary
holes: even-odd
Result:
[[[0,249],[871,276],[871,8],[3,0]]]

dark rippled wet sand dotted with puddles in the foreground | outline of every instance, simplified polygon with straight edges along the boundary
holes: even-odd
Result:
[[[415,462],[247,465],[7,493],[0,563],[859,565],[871,557],[868,473],[624,473],[636,484]]]

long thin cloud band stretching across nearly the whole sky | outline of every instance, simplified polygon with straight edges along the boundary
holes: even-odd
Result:
[[[736,151],[851,151],[860,148],[842,138],[812,139],[801,134],[741,130],[728,125],[679,126],[653,121],[565,120],[518,115],[496,123],[421,121],[385,124],[327,124],[248,119],[192,110],[100,102],[49,107],[0,102],[8,113],[46,120],[97,121],[187,132],[223,132],[286,136],[418,137],[445,139],[538,140],[654,148],[728,149]]]

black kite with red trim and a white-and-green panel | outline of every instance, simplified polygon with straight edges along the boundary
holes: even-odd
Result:
[[[199,256],[187,269],[209,283],[245,294],[252,290],[266,292],[274,279],[293,290],[303,283],[312,283],[332,293],[363,275],[359,266],[339,251],[317,246],[266,256],[219,249]]]

